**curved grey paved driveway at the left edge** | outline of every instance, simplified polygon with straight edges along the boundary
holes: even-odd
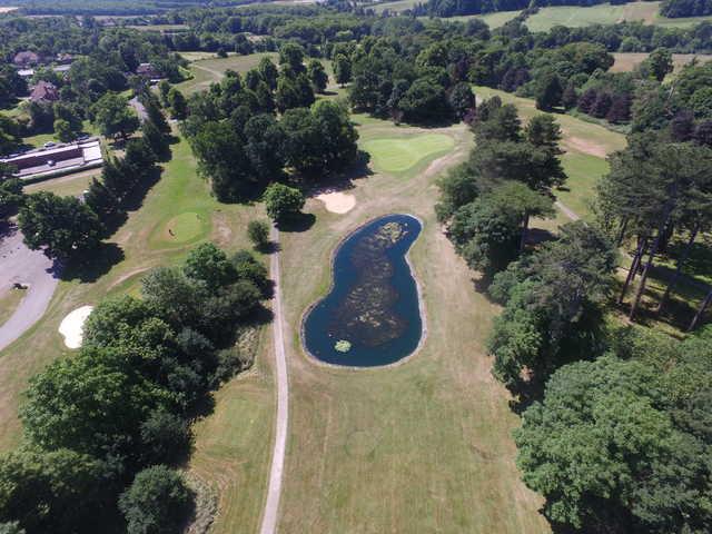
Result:
[[[40,250],[30,250],[14,225],[0,228],[0,291],[14,283],[29,286],[27,295],[10,318],[0,325],[0,350],[20,337],[44,312],[55,294],[58,277],[53,261]]]

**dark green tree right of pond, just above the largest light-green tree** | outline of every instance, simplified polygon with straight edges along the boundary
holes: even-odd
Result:
[[[613,245],[603,233],[572,222],[562,227],[557,241],[496,275],[491,289],[505,309],[488,342],[495,377],[516,389],[595,350],[599,306],[610,295],[615,265]]]

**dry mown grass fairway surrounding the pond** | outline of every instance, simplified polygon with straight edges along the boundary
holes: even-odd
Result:
[[[359,134],[367,147],[405,129],[372,119]],[[517,417],[485,355],[497,309],[474,290],[473,273],[433,210],[437,175],[467,156],[472,136],[464,125],[407,130],[447,134],[455,148],[425,169],[413,160],[407,180],[385,172],[355,180],[349,194],[357,204],[346,215],[312,199],[306,210],[316,224],[281,233],[291,412],[279,532],[547,532],[540,498],[514,465]],[[424,291],[427,340],[396,367],[318,366],[301,349],[299,325],[328,290],[334,247],[390,212],[424,221],[411,260]]]

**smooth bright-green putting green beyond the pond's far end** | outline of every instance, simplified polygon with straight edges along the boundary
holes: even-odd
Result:
[[[376,138],[363,144],[374,167],[393,174],[406,172],[425,160],[449,152],[454,146],[454,139],[443,134]]]

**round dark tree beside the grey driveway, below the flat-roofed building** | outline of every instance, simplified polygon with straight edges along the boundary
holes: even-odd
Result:
[[[44,254],[60,259],[95,248],[101,234],[99,218],[89,206],[48,191],[26,197],[18,222],[29,248],[43,248]]]

